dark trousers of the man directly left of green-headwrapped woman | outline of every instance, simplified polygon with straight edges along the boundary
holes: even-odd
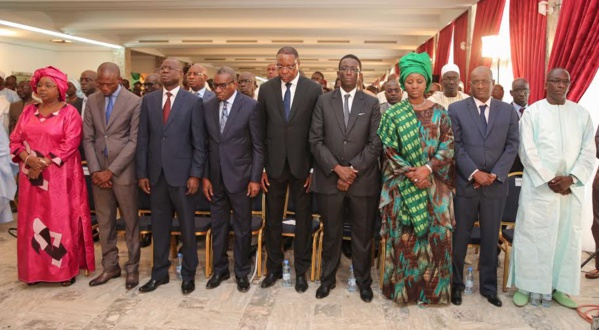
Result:
[[[324,226],[321,276],[323,286],[330,286],[336,281],[346,210],[351,226],[352,264],[356,283],[360,289],[372,284],[371,249],[378,199],[378,196],[352,196],[344,192],[318,194],[318,206]]]

